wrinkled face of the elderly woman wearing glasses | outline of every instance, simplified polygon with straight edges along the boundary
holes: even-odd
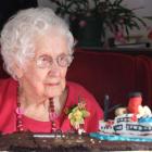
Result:
[[[39,98],[60,96],[65,88],[67,66],[59,65],[56,60],[62,60],[62,56],[68,54],[67,49],[65,36],[55,30],[53,34],[39,36],[36,39],[35,58],[26,66],[21,78],[24,90]],[[47,66],[48,61],[51,62],[51,66]],[[46,66],[42,67],[41,62]]]

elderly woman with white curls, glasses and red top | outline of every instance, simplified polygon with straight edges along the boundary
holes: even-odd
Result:
[[[68,26],[50,9],[20,11],[9,20],[1,54],[12,78],[0,80],[1,132],[98,130],[103,112],[96,99],[65,78],[73,47]]]

